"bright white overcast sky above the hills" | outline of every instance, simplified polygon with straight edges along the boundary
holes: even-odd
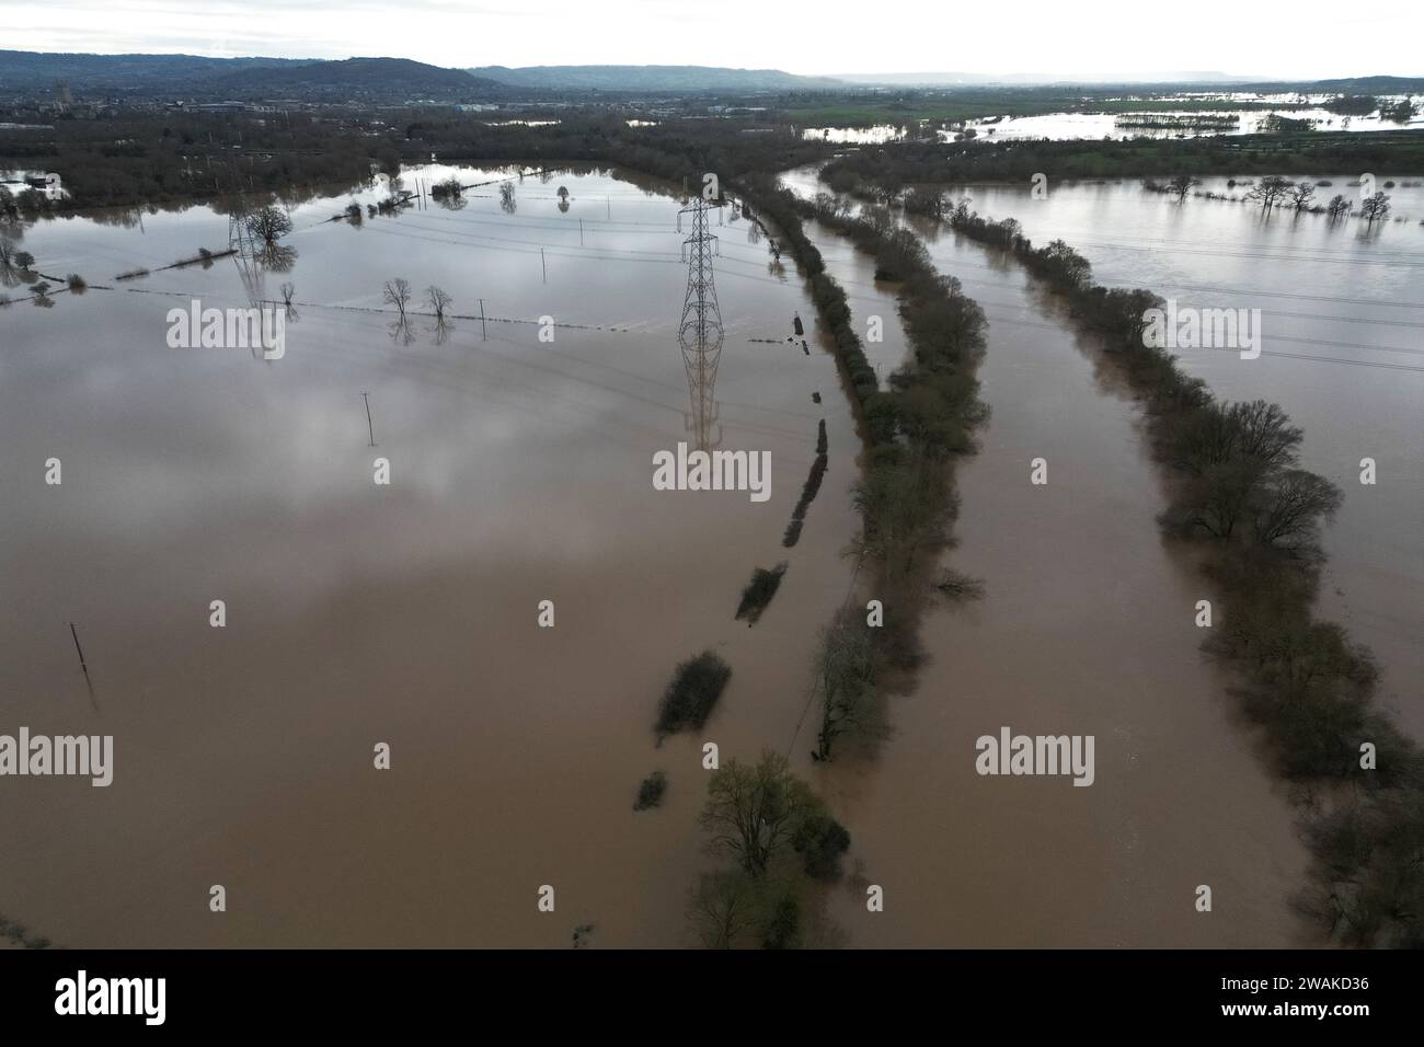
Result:
[[[1424,74],[1424,3],[0,0],[0,47],[789,73]]]

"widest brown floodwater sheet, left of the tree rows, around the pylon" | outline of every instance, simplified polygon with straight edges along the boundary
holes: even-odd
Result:
[[[702,742],[723,761],[792,744],[850,580],[859,440],[815,325],[809,352],[786,340],[815,316],[800,279],[748,222],[712,226],[726,338],[699,424],[681,201],[568,171],[515,182],[510,214],[497,188],[359,226],[328,221],[347,197],[296,207],[295,258],[262,278],[299,302],[273,360],[167,345],[169,309],[248,302],[231,258],[159,272],[225,248],[224,215],[24,232],[40,271],[91,288],[0,311],[0,734],[114,736],[108,788],[0,779],[0,912],[33,934],[567,947],[591,923],[594,946],[689,943],[685,892],[711,866]],[[433,318],[407,340],[380,312],[397,276],[413,309],[427,285],[453,295],[443,342]],[[481,298],[503,318],[487,336]],[[541,316],[584,326],[543,342]],[[785,550],[822,417],[829,473]],[[699,429],[770,452],[768,501],[654,490],[654,453]],[[752,568],[782,558],[762,621],[733,621]],[[655,748],[662,688],[703,648],[732,665],[728,691],[703,732]],[[634,813],[655,768],[664,806]]]

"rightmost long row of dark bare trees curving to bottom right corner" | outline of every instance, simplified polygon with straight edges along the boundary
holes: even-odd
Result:
[[[1155,454],[1178,479],[1161,523],[1206,543],[1225,597],[1206,650],[1240,672],[1246,712],[1302,786],[1313,865],[1299,907],[1350,944],[1424,944],[1424,755],[1374,707],[1370,651],[1313,615],[1319,527],[1341,493],[1300,467],[1302,430],[1279,405],[1216,400],[1151,345],[1145,313],[1163,305],[1152,292],[1096,285],[1062,241],[1034,246],[1017,221],[967,201],[950,224],[1061,293],[1142,397]]]

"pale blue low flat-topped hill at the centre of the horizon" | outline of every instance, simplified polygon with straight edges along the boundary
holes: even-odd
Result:
[[[786,91],[844,88],[830,77],[721,66],[483,66],[468,70],[533,91]]]

